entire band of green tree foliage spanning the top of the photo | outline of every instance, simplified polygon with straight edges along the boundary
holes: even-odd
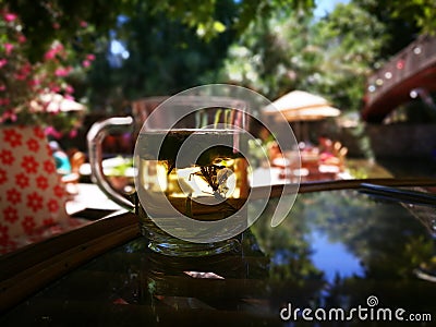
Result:
[[[96,53],[92,74],[72,80],[101,106],[235,82],[272,99],[302,88],[356,110],[371,71],[436,27],[433,0],[351,0],[318,21],[314,0],[0,1],[21,16],[31,60],[53,39]],[[130,53],[122,68],[107,61],[114,37]]]

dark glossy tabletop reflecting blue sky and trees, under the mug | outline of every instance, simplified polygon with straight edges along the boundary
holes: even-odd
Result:
[[[171,258],[150,253],[136,237],[22,302],[0,325],[293,326],[280,317],[289,305],[434,315],[436,283],[415,274],[434,254],[429,221],[397,203],[342,190],[300,194],[287,219],[271,228],[275,202],[244,233],[238,252]],[[370,306],[371,296],[377,305]],[[301,313],[295,317],[304,322]],[[360,322],[356,314],[351,322],[330,323],[360,324],[386,323],[370,316]]]

